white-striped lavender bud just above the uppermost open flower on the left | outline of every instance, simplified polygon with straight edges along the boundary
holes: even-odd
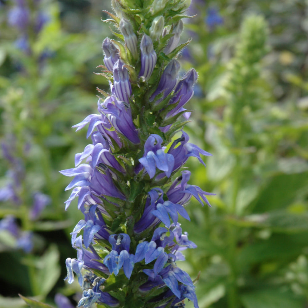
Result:
[[[113,84],[115,93],[121,102],[129,103],[129,97],[132,95],[132,86],[128,78],[128,70],[123,67],[121,60],[118,60],[113,67]]]

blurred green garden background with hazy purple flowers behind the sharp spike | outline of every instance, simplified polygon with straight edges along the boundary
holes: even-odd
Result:
[[[1,308],[25,306],[18,293],[59,308],[55,294],[80,297],[63,278],[82,214],[64,211],[58,171],[88,143],[71,126],[108,91],[93,73],[112,36],[102,10],[108,0],[0,0]],[[199,78],[185,130],[213,154],[188,167],[216,196],[187,207],[198,248],[178,265],[198,277],[200,308],[307,307],[308,1],[194,0],[188,14],[179,58]]]

